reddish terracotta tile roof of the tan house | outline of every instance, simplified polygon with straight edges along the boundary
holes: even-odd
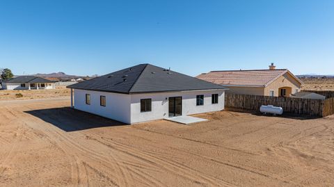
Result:
[[[223,86],[261,86],[266,87],[280,76],[289,72],[280,70],[234,70],[212,71],[196,76],[198,79],[220,84]],[[291,74],[291,73],[290,73]],[[294,76],[292,74],[292,76]]]

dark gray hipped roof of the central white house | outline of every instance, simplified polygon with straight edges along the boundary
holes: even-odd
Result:
[[[67,88],[124,94],[227,89],[214,83],[202,81],[192,76],[150,64],[129,67],[95,79],[67,86]]]

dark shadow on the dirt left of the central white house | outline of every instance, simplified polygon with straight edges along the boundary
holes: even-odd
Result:
[[[35,111],[24,111],[41,120],[53,124],[63,131],[81,131],[98,127],[114,127],[126,125],[122,122],[109,120],[83,111],[78,111],[70,107],[47,108]]]

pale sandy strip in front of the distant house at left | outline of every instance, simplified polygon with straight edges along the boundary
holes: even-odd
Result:
[[[22,97],[17,96],[21,94]],[[70,89],[58,86],[54,90],[0,90],[0,101],[46,99],[55,97],[70,97]]]

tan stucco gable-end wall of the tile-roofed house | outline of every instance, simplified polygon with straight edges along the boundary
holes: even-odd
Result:
[[[274,90],[274,96],[279,96],[279,88],[282,87],[290,87],[292,88],[292,94],[296,93],[296,89],[301,89],[301,83],[296,81],[293,76],[286,73],[283,76],[280,76],[280,78],[276,79],[276,81],[273,81],[273,83],[269,84],[266,88],[264,88],[264,95],[269,96],[270,90]],[[289,95],[287,95],[289,96]]]

